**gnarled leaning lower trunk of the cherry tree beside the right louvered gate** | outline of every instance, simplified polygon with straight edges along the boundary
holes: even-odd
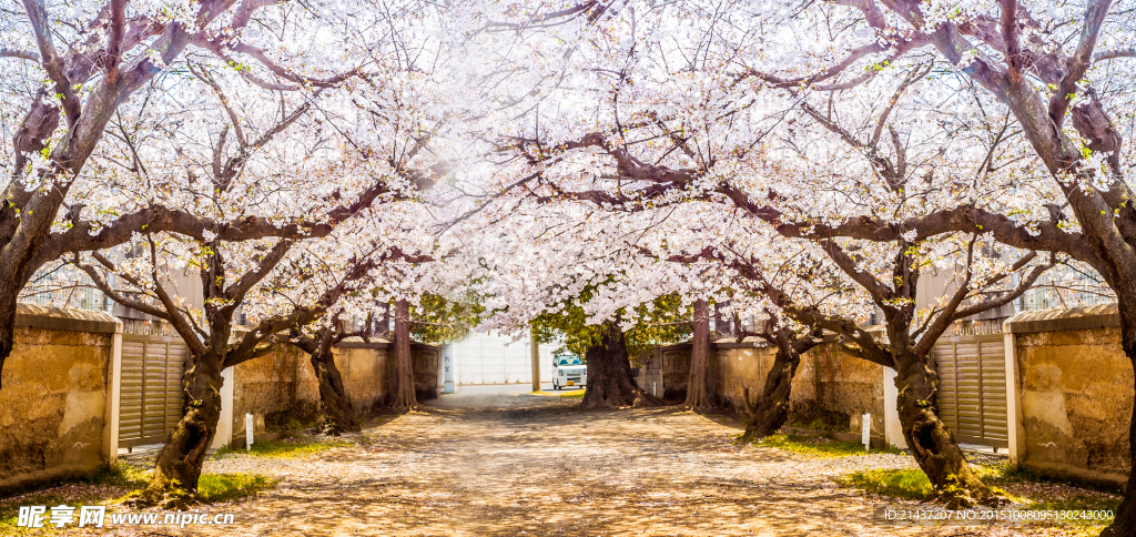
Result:
[[[954,434],[938,418],[938,375],[919,356],[895,356],[903,438],[919,468],[951,509],[997,505],[1004,498],[970,470]]]

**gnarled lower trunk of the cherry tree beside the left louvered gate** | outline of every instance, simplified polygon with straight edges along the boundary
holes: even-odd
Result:
[[[182,376],[182,420],[158,453],[153,477],[139,498],[141,505],[185,509],[197,496],[201,465],[220,420],[220,356],[208,354]]]

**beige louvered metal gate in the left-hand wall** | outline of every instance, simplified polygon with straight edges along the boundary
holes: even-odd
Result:
[[[119,447],[166,442],[182,419],[182,372],[189,355],[177,337],[123,334]]]

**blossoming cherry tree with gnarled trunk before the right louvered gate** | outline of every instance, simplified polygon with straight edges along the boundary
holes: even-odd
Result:
[[[930,76],[941,68],[935,58],[869,62],[866,76],[830,87],[810,87],[827,75],[761,70],[769,47],[794,50],[766,42],[796,39],[772,30],[793,27],[790,14],[770,22],[757,8],[736,14],[687,2],[627,7],[617,18],[602,28],[583,20],[540,28],[521,48],[551,58],[541,66],[546,76],[567,82],[532,97],[506,90],[531,103],[531,120],[498,139],[511,156],[502,163],[517,196],[587,201],[605,211],[712,202],[780,237],[809,241],[883,311],[886,343],[853,318],[793,303],[760,272],[749,277],[793,320],[841,334],[847,351],[899,371],[904,435],[946,500],[999,502],[937,417],[929,352],[955,321],[1010,303],[1059,261],[1034,251],[1052,250],[1045,244],[1064,232],[1044,208],[1018,204],[1025,195],[1056,198],[1025,142],[1008,131],[1008,116],[996,106],[983,112],[996,103]],[[819,40],[804,54],[822,56],[828,45]],[[852,64],[862,66],[857,61],[875,50],[866,47]],[[885,67],[897,73],[876,76]],[[1030,237],[1014,243],[1027,250],[996,249],[988,235],[995,227]],[[744,272],[767,254],[760,244],[745,246],[737,263],[701,247],[676,253]],[[958,278],[938,305],[919,311],[918,283],[935,263],[958,266]]]

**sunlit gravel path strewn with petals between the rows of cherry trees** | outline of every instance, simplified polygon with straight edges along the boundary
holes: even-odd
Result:
[[[734,443],[676,408],[584,412],[578,400],[444,396],[302,460],[227,455],[209,472],[281,477],[236,523],[160,535],[1017,535],[903,527],[883,501],[837,487],[901,455],[809,459]]]

